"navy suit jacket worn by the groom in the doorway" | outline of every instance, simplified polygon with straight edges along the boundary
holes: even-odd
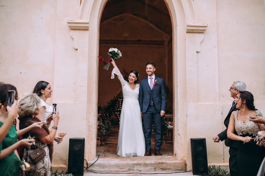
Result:
[[[165,82],[163,78],[155,77],[157,84],[153,86],[152,94],[153,101],[158,112],[161,110],[165,111],[166,109],[166,90]],[[140,90],[139,90],[139,104],[142,112],[146,112],[150,102],[150,85],[148,84],[148,77],[140,81]]]

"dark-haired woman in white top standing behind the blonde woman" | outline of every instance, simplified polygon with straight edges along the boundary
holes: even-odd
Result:
[[[41,99],[41,109],[39,110],[39,115],[36,117],[40,121],[44,121],[47,128],[49,128],[49,125],[52,121],[52,106],[48,105],[46,101],[48,98],[52,97],[52,86],[49,84],[49,82],[39,81],[35,85],[33,93],[37,94]],[[61,143],[62,140],[63,138],[60,136],[55,136],[54,138],[54,141],[56,141],[58,144]]]

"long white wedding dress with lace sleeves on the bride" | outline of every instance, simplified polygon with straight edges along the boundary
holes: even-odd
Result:
[[[138,101],[139,84],[134,90],[127,81],[123,79],[118,67],[114,67],[111,79],[114,74],[118,76],[122,84],[123,103],[120,114],[120,129],[116,153],[119,156],[144,156],[145,137],[143,134],[142,118]]]

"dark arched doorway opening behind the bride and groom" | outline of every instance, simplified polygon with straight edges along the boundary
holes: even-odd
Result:
[[[143,79],[147,76],[145,64],[150,61],[155,62],[155,75],[165,80],[167,88],[167,115],[163,123],[161,153],[173,155],[173,33],[170,13],[165,2],[108,0],[102,12],[99,34],[100,56],[107,56],[110,47],[118,48],[122,52],[122,58],[118,59],[116,64],[124,77],[127,77],[130,70],[137,70],[140,79]],[[103,156],[116,155],[119,129],[120,107],[115,106],[113,101],[116,101],[116,104],[120,103],[118,99],[122,97],[121,84],[117,78],[110,79],[111,71],[112,65],[106,71],[99,63],[98,104],[99,109],[103,107],[99,113],[109,113],[109,121],[112,123],[111,132],[108,134],[110,128],[104,128],[108,126],[104,123],[108,122],[102,121],[100,117],[98,119],[100,120],[98,137],[104,136],[104,145],[97,148],[97,153]],[[107,93],[106,87],[108,87]],[[106,133],[103,135],[103,132]],[[152,144],[155,142],[154,136],[151,142]]]

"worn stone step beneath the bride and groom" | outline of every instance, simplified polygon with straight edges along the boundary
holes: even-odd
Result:
[[[97,159],[97,158],[96,158]],[[95,159],[95,160],[96,160]],[[88,161],[88,166],[95,162]],[[163,171],[184,172],[186,171],[186,162],[178,160],[174,156],[144,156],[144,157],[104,157],[100,156],[89,170],[93,172],[115,172],[115,173],[155,173]]]

